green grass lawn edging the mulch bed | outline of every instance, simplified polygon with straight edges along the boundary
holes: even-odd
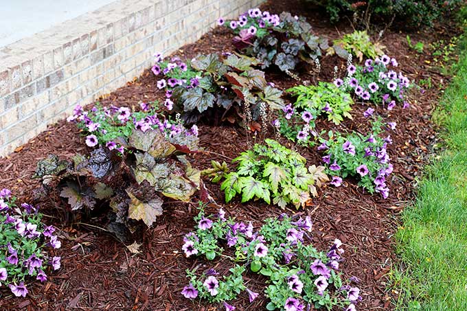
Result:
[[[466,38],[461,45],[466,46]],[[396,234],[398,310],[467,310],[467,50],[453,67],[435,120],[446,149],[425,169]],[[403,272],[400,272],[403,271]]]

